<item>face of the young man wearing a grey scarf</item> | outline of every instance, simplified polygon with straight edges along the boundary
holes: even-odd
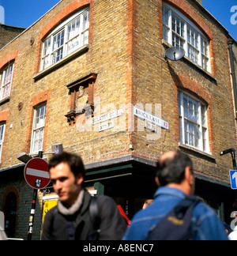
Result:
[[[79,174],[75,177],[70,166],[66,163],[61,163],[55,168],[51,168],[50,174],[51,182],[59,200],[68,207],[73,205],[81,192],[83,176]]]

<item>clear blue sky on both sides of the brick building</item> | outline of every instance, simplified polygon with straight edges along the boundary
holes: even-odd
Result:
[[[0,0],[0,5],[5,9],[6,24],[28,28],[58,2],[59,0]],[[237,24],[231,24],[231,16],[235,13],[233,18],[237,23],[237,0],[202,0],[202,4],[237,40]],[[236,6],[235,13],[231,13],[232,6]]]

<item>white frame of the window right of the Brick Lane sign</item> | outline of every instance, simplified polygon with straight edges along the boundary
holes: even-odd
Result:
[[[187,109],[185,110],[184,99],[187,101]],[[195,120],[195,114],[192,115],[194,119],[189,119],[189,110],[193,110],[195,112],[195,107],[192,109],[189,107],[189,104],[192,103],[193,106],[196,104],[198,109],[196,108],[196,112],[198,113],[197,118]],[[209,148],[209,126],[208,126],[208,106],[204,104],[198,98],[192,96],[188,92],[178,91],[178,107],[179,107],[179,142],[182,145],[187,145],[191,148],[198,149],[201,152],[205,152],[210,154]],[[186,117],[185,112],[187,112],[188,117]],[[198,145],[195,145],[195,134],[194,129],[192,130],[193,143],[190,143],[190,126],[197,127],[198,132]],[[187,129],[186,129],[187,127]],[[191,137],[192,137],[191,136]],[[197,137],[197,136],[196,136]]]

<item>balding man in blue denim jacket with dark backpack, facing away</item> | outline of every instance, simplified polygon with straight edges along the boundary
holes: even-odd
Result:
[[[189,156],[164,153],[157,163],[154,202],[134,216],[124,240],[228,240],[220,220],[198,197]]]

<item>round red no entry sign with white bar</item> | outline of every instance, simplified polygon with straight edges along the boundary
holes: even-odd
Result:
[[[47,162],[42,158],[29,160],[24,167],[24,179],[36,190],[46,187],[51,182]]]

